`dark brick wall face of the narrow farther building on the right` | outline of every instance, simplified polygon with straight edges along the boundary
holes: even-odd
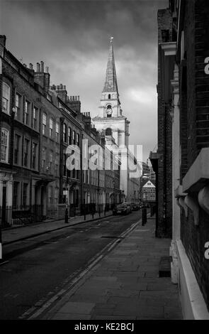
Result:
[[[172,122],[171,105],[164,92],[164,74],[161,58],[161,43],[174,41],[174,18],[169,9],[158,11],[158,150],[157,177],[157,237],[171,237],[172,226]]]

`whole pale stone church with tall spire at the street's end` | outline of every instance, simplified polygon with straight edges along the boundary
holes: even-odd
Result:
[[[140,164],[128,149],[129,124],[120,107],[118,82],[115,71],[113,38],[111,38],[106,80],[101,93],[99,112],[93,118],[97,131],[105,136],[106,146],[120,159],[120,190],[123,201],[137,202],[140,193]]]

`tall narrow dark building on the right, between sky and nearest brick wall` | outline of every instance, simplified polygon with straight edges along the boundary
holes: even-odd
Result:
[[[172,120],[171,86],[176,54],[176,11],[160,9],[158,23],[158,149],[150,153],[156,173],[156,236],[171,237],[172,230]]]

